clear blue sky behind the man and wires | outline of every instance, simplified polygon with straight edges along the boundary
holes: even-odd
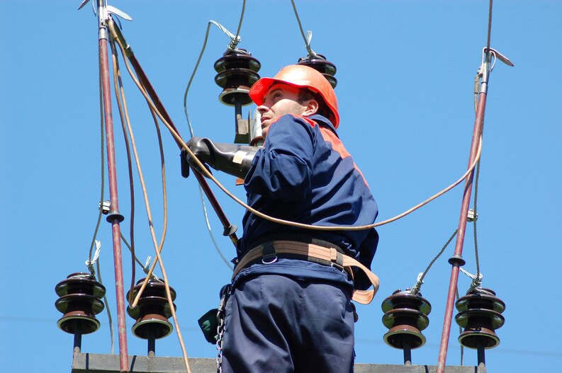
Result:
[[[123,33],[183,137],[189,132],[184,90],[209,20],[235,32],[242,1],[110,1],[133,16]],[[5,372],[69,372],[72,335],[57,329],[54,287],[84,271],[100,194],[99,91],[96,18],[79,1],[0,3],[0,360]],[[337,66],[342,122],[339,135],[368,180],[379,220],[393,217],[459,178],[468,162],[474,122],[473,78],[488,26],[488,1],[297,1],[312,47]],[[480,181],[478,248],[483,286],[506,304],[500,346],[486,353],[490,372],[549,372],[562,363],[557,310],[561,274],[559,216],[562,197],[562,2],[496,0],[491,45],[515,67],[498,63],[490,76]],[[306,54],[290,1],[247,1],[239,47],[271,76]],[[213,28],[189,93],[194,131],[232,142],[233,110],[218,102],[213,63],[228,43]],[[152,118],[123,63],[125,92],[147,178],[154,226],[162,231],[162,187]],[[253,110],[254,107],[247,106]],[[128,235],[130,200],[125,148],[114,105],[122,230]],[[179,174],[178,149],[162,127],[167,165],[169,225],[163,258],[176,289],[181,331],[191,357],[213,357],[196,320],[218,304],[230,279],[206,232],[196,180]],[[136,175],[136,172],[135,172]],[[232,178],[219,179],[244,197]],[[107,179],[106,179],[107,180]],[[138,185],[135,232],[141,260],[154,256]],[[242,207],[218,188],[233,224]],[[108,199],[106,185],[106,199]],[[402,352],[383,343],[381,302],[411,287],[418,272],[442,248],[458,224],[461,189],[398,222],[378,229],[381,243],[373,272],[381,288],[369,306],[358,306],[357,362],[401,364]],[[230,240],[213,214],[219,246],[233,256]],[[476,272],[472,226],[463,256]],[[240,234],[242,232],[240,231]],[[116,317],[111,228],[102,222],[101,275]],[[449,286],[453,245],[425,278],[431,302],[427,344],[412,351],[415,364],[435,365]],[[123,252],[125,284],[130,258]],[[137,270],[138,273],[138,270]],[[160,272],[157,272],[160,275]],[[137,279],[140,278],[137,275]],[[459,277],[465,292],[468,277]],[[109,353],[106,314],[84,335],[82,350]],[[130,333],[128,351],[145,354]],[[116,327],[116,326],[115,326]],[[451,328],[447,363],[459,365],[458,328]],[[157,341],[157,355],[180,356],[175,333]],[[476,352],[465,351],[466,365]]]

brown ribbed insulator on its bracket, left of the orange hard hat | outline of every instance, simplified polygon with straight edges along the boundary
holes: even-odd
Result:
[[[225,105],[235,107],[235,139],[237,143],[249,144],[250,120],[242,119],[242,106],[252,102],[249,88],[259,80],[257,71],[262,67],[252,53],[242,49],[226,50],[215,62],[215,83],[223,88],[218,99]]]

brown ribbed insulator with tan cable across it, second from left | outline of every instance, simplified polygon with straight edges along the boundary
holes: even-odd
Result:
[[[128,299],[137,296],[144,281],[145,279],[142,279],[137,282],[133,288],[132,297],[130,291],[127,292]],[[173,302],[176,299],[176,292],[172,287],[170,287],[170,294]],[[149,280],[137,306],[135,308],[127,307],[127,313],[136,321],[132,328],[133,334],[138,338],[148,340],[149,355],[154,354],[154,340],[167,337],[174,329],[172,323],[168,321],[172,317],[172,308],[166,297],[166,286],[162,281]]]

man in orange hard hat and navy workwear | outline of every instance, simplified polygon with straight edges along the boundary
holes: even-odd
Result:
[[[249,96],[262,115],[264,147],[193,138],[196,156],[244,178],[248,205],[271,217],[315,226],[372,224],[376,202],[339,141],[337,98],[324,76],[291,65],[257,81]],[[373,277],[369,282],[370,271],[342,270],[314,252],[370,268],[376,231],[306,229],[250,212],[243,227],[226,305],[223,372],[352,372],[350,300],[354,287],[366,289]]]

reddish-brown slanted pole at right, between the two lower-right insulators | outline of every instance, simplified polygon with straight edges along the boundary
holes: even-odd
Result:
[[[487,85],[487,81],[483,81],[482,85]],[[487,88],[487,87],[485,87]],[[482,125],[484,122],[484,113],[486,108],[486,92],[481,91],[480,96],[478,96],[478,106],[476,109],[476,120],[474,121],[474,129],[472,134],[472,144],[470,156],[468,157],[468,167],[476,158],[478,153],[478,145],[480,144],[480,134],[482,132]],[[447,355],[447,346],[449,345],[449,334],[451,332],[451,321],[453,318],[453,309],[455,302],[455,294],[457,281],[459,280],[459,267],[463,265],[464,260],[462,259],[463,253],[463,243],[464,243],[464,233],[466,230],[466,221],[468,219],[468,205],[471,200],[472,182],[473,182],[474,172],[471,172],[466,177],[466,182],[464,185],[463,200],[461,204],[461,216],[459,218],[459,230],[456,235],[456,245],[454,256],[449,259],[451,263],[451,279],[449,281],[449,292],[447,294],[447,302],[445,308],[445,319],[443,321],[443,331],[441,335],[441,345],[439,346],[439,357],[437,361],[436,373],[444,373],[445,361]]]

